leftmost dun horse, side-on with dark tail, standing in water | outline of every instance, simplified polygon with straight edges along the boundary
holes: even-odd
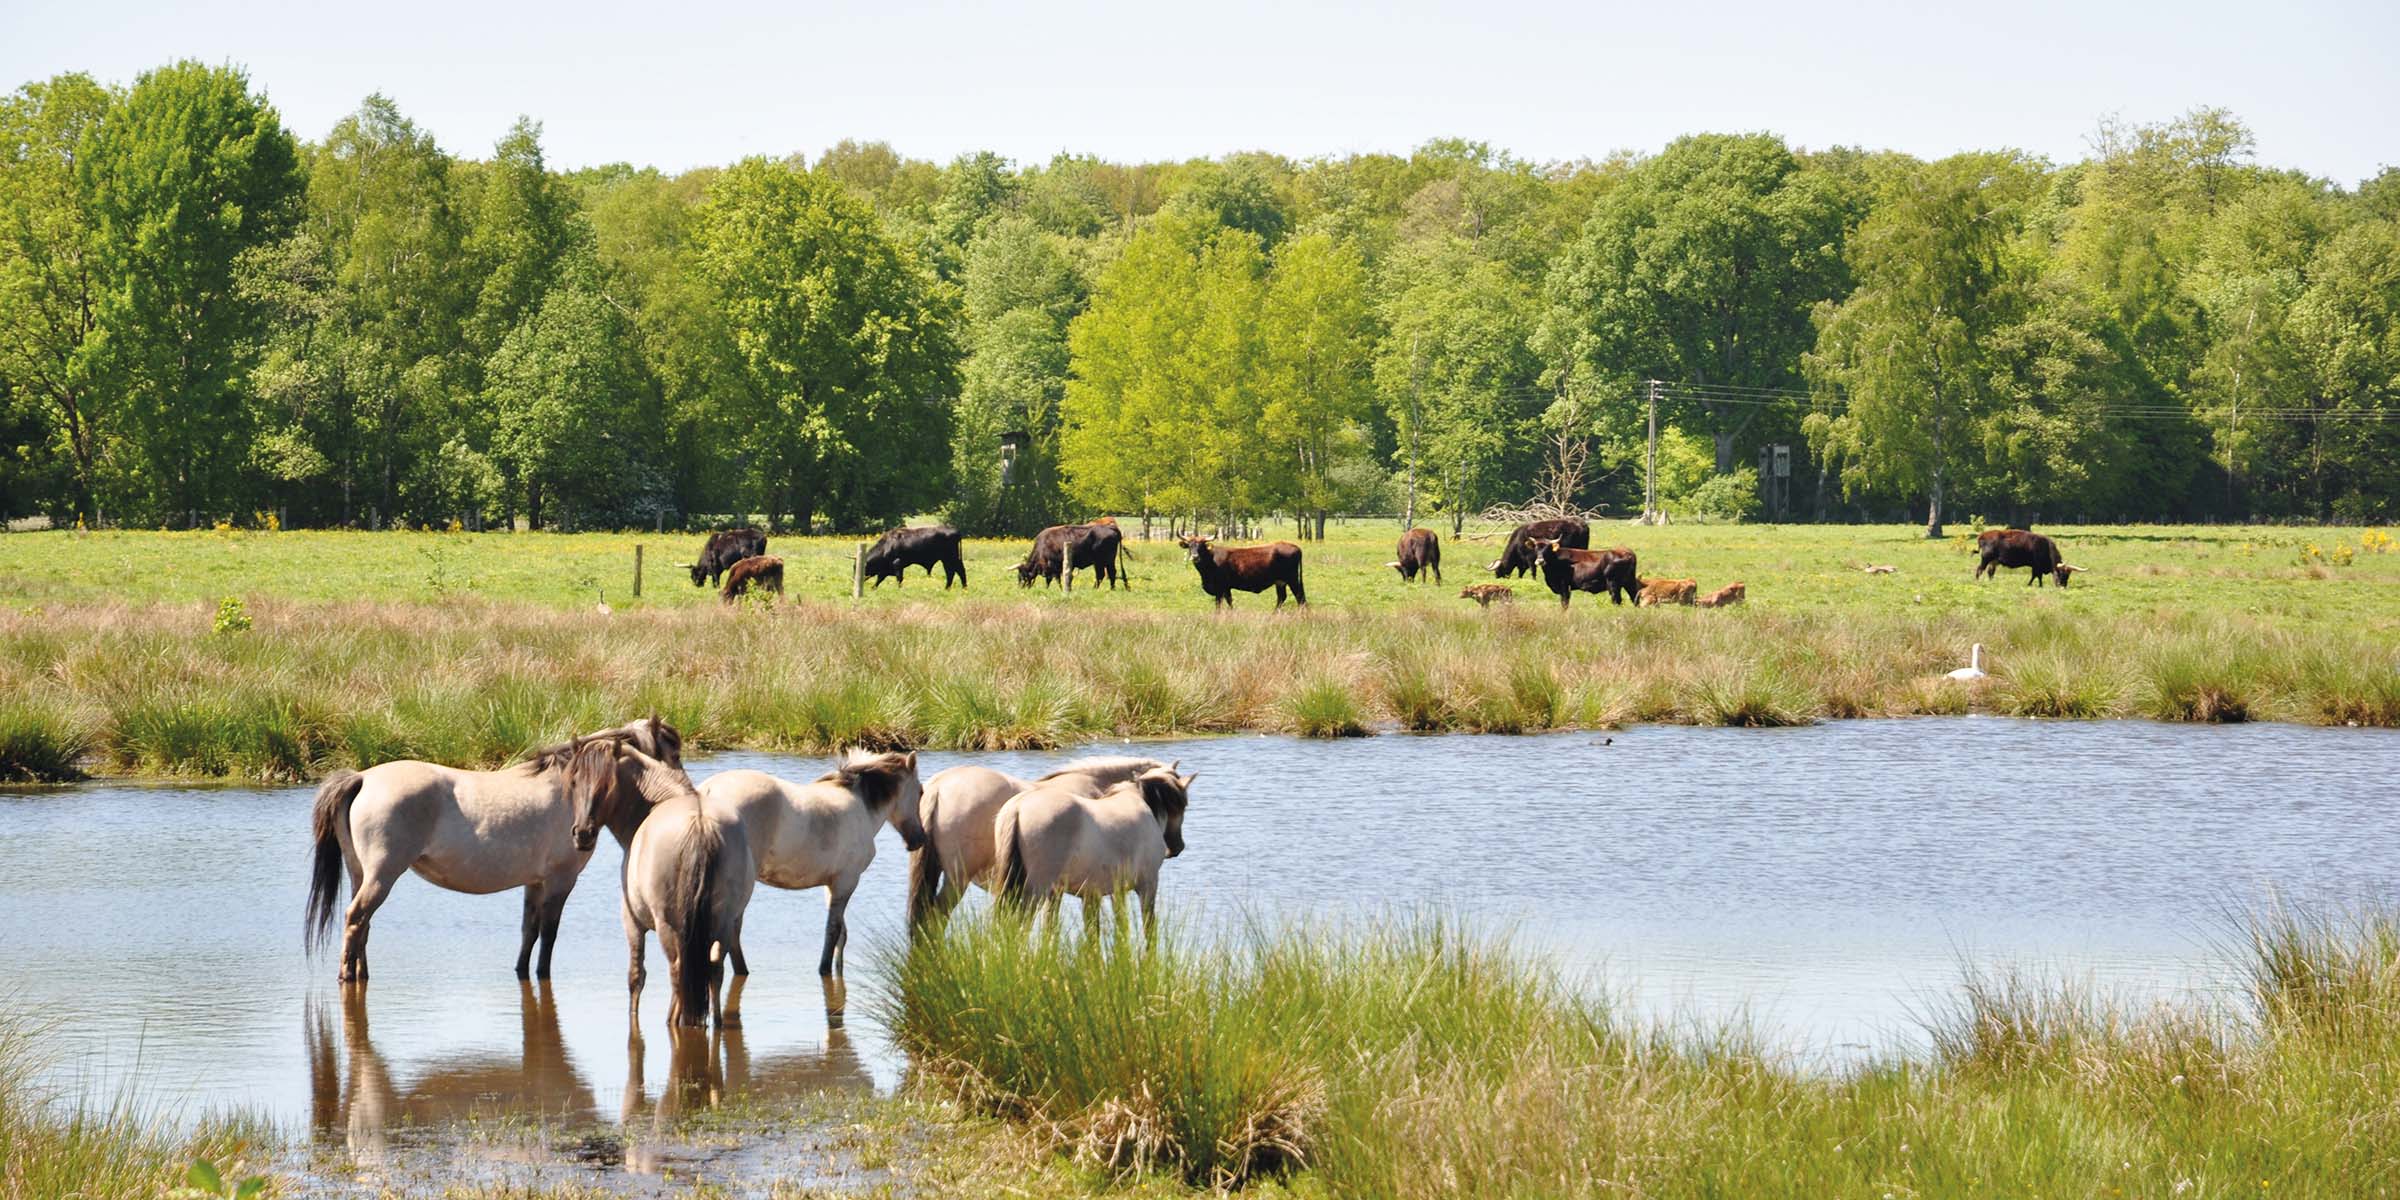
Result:
[[[672,725],[643,718],[617,730],[578,737],[535,751],[499,770],[456,770],[434,763],[394,761],[367,770],[336,770],[317,787],[314,869],[310,871],[305,929],[322,946],[334,926],[343,869],[350,905],[341,929],[341,979],[367,977],[367,929],[391,895],[401,871],[415,871],[456,893],[490,895],[526,888],[523,941],[516,977],[526,977],[533,943],[542,960],[533,972],[550,979],[550,950],[559,941],[566,893],[590,862],[590,845],[571,835],[564,773],[576,749],[590,742],[626,742],[682,773],[684,739]],[[638,814],[610,826],[619,842],[634,838]]]

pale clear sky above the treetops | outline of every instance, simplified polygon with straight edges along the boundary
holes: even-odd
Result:
[[[682,170],[883,139],[1116,161],[1409,151],[1531,161],[1687,132],[2083,158],[2105,118],[2239,115],[2258,161],[2400,166],[2400,2],[1639,5],[0,0],[0,86],[233,62],[300,137],[372,91],[458,156],[518,115],[554,168]]]

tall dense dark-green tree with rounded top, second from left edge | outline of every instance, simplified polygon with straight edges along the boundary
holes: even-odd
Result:
[[[142,74],[82,149],[106,331],[84,377],[122,398],[142,463],[130,499],[170,518],[228,511],[247,499],[240,382],[262,317],[235,262],[290,230],[298,146],[242,72],[178,62]]]

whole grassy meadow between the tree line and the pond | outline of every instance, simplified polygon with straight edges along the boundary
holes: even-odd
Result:
[[[1166,542],[1135,542],[1130,590],[1020,588],[1022,542],[970,542],[972,590],[917,574],[852,600],[854,540],[778,538],[785,600],[725,607],[674,569],[689,535],[0,535],[0,780],[499,763],[646,710],[802,751],[1968,710],[2400,725],[2381,530],[2050,528],[2086,569],[2059,590],[1973,581],[1970,533],[1606,526],[1646,576],[1750,602],[1565,614],[1536,578],[1490,612],[1457,598],[1500,530],[1445,538],[1445,586],[1385,566],[1394,533],[1337,526],[1306,545],[1306,612],[1231,614]],[[1992,677],[1944,679],[1970,643]]]

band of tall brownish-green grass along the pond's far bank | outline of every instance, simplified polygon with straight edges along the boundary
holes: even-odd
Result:
[[[0,780],[74,770],[310,780],[386,758],[497,766],[660,713],[696,746],[1025,749],[1284,730],[1538,732],[1994,710],[2400,725],[2366,631],[2026,607],[1171,612],[101,605],[0,610]],[[1193,629],[1195,622],[1205,622]],[[1992,679],[1942,674],[1985,643]]]

